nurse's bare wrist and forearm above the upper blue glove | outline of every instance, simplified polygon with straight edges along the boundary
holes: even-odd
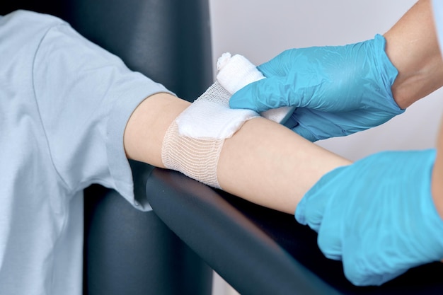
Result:
[[[401,108],[443,86],[443,60],[430,0],[418,1],[384,37],[386,54],[398,69],[391,89]]]

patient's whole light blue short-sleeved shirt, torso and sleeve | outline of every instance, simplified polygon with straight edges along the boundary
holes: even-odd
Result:
[[[0,16],[0,294],[82,294],[83,190],[134,202],[123,132],[166,88],[53,16]]]

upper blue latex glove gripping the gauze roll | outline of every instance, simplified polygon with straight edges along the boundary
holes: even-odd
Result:
[[[403,112],[392,97],[398,71],[385,44],[376,35],[352,45],[284,51],[258,66],[267,79],[237,91],[230,106],[258,112],[295,106],[285,125],[310,141],[381,125]]]

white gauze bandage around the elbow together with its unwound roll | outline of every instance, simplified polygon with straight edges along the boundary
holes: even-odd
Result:
[[[217,180],[217,163],[224,140],[244,122],[258,117],[253,110],[232,110],[229,98],[238,89],[264,76],[248,59],[238,54],[233,57],[229,53],[223,54],[217,62],[217,70],[217,81],[168,128],[161,160],[166,168],[221,188]],[[280,122],[287,115],[287,111],[283,112],[273,110],[268,118]]]

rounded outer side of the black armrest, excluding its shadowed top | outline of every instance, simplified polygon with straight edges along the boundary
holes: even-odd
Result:
[[[210,187],[154,169],[146,197],[160,219],[241,294],[334,294]]]

